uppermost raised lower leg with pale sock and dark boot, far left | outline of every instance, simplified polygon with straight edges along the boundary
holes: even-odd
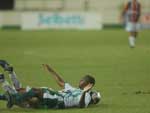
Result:
[[[10,77],[15,89],[21,88],[21,84],[20,84],[19,80],[17,79],[16,73],[15,73],[13,67],[10,66],[9,63],[6,62],[5,60],[0,60],[0,65],[5,71],[7,71],[9,73],[9,77]]]

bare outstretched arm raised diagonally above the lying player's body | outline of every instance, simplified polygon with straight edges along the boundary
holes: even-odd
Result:
[[[64,85],[65,85],[65,82],[64,80],[61,78],[61,76],[56,73],[56,71],[54,71],[48,64],[43,64],[43,67],[49,72],[52,74],[52,76],[55,78],[57,84],[64,88]]]

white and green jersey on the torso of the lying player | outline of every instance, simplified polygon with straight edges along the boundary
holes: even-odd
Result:
[[[83,90],[72,87],[69,83],[65,83],[64,89],[58,92],[48,88],[43,89],[45,89],[45,93],[43,94],[44,99],[52,101],[57,99],[58,103],[63,101],[65,108],[79,107],[80,99],[83,94]],[[85,95],[85,107],[89,105],[90,101],[91,96],[87,92]]]

